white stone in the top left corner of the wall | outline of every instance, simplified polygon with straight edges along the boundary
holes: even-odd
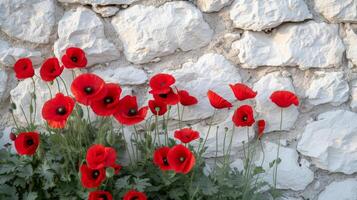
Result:
[[[53,0],[1,0],[0,30],[11,37],[48,43],[55,25]]]

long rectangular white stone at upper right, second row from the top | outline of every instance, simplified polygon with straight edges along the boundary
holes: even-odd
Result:
[[[300,69],[340,66],[345,50],[338,26],[309,21],[282,25],[272,34],[245,32],[232,48],[245,68],[299,66]]]

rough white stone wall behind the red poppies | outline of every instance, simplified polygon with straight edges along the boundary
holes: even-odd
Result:
[[[208,89],[233,101],[229,83],[253,87],[258,96],[249,103],[268,123],[268,182],[280,124],[268,97],[295,91],[301,106],[284,111],[278,187],[291,200],[357,199],[357,0],[0,0],[0,144],[13,125],[10,98],[26,109],[32,90],[30,80],[14,79],[14,62],[30,57],[38,68],[69,46],[86,51],[88,71],[120,83],[141,103],[152,74],[173,74],[200,99],[185,119],[203,135],[213,114]],[[41,106],[48,91],[42,85],[36,92]],[[220,136],[231,115],[218,113]],[[247,139],[245,130],[236,131],[238,168]],[[212,157],[213,135],[208,145]]]

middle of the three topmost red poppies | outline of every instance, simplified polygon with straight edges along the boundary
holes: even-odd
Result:
[[[60,66],[56,57],[47,59],[41,66],[40,76],[44,81],[53,81],[61,75],[63,67]]]

